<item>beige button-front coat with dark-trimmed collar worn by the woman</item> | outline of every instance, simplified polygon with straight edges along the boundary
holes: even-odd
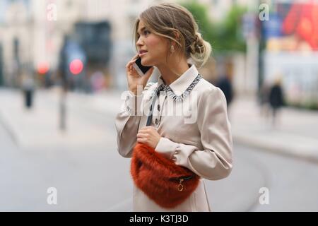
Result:
[[[223,179],[231,172],[232,136],[225,96],[198,74],[192,65],[170,85],[160,76],[140,96],[127,92],[116,118],[119,154],[131,157],[136,133],[146,126],[153,93],[163,88],[151,124],[162,136],[155,150],[202,178],[196,191],[173,209],[161,208],[134,186],[134,211],[211,211],[204,179]]]

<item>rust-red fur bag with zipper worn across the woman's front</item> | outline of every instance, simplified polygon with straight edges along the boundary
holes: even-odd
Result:
[[[199,184],[199,176],[175,165],[143,143],[137,143],[131,159],[136,186],[163,208],[174,208],[186,200]]]

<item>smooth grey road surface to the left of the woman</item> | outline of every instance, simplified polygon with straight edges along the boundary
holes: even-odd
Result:
[[[100,211],[130,198],[129,162],[106,138],[100,147],[26,150],[0,126],[0,210]],[[57,206],[47,204],[49,187]]]

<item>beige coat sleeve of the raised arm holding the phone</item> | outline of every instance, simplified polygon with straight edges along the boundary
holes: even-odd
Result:
[[[142,95],[134,95],[126,91],[122,95],[124,104],[115,119],[117,129],[117,151],[123,157],[131,157],[132,150],[136,145],[139,122],[141,119],[141,102],[143,95],[153,83],[148,83]]]

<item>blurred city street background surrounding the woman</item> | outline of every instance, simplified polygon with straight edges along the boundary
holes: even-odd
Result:
[[[132,210],[114,117],[134,21],[158,2],[0,0],[1,211]],[[228,102],[234,167],[206,182],[212,209],[317,211],[318,2],[170,2],[211,43],[199,71]]]

